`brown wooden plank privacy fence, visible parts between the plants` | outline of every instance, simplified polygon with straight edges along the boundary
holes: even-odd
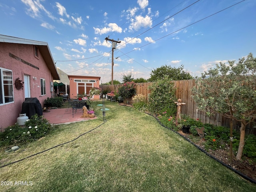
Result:
[[[196,107],[196,102],[192,99],[192,88],[196,85],[194,79],[192,80],[178,80],[173,81],[174,87],[176,88],[176,97],[180,98],[182,102],[186,103],[186,105],[182,106],[181,113],[190,116],[191,118],[199,118],[203,123],[210,123],[218,126],[230,127],[230,118],[223,117],[221,114],[215,114],[213,116],[207,116],[205,112],[198,110]],[[136,83],[136,94],[143,94],[148,99],[148,94],[150,90],[148,86],[150,86],[152,82],[147,83]],[[122,84],[118,85],[102,85],[102,90],[116,91],[118,87],[122,86]],[[233,121],[233,129],[238,130],[240,127],[240,123],[236,120]],[[253,128],[253,125],[250,124],[246,127],[246,134],[256,134],[256,129]]]

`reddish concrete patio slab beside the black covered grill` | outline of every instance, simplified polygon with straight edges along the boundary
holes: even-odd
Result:
[[[52,124],[66,124],[71,122],[87,121],[97,118],[82,118],[82,109],[78,109],[76,113],[74,112],[74,117],[72,115],[72,108],[58,108],[58,109],[48,109],[43,112],[43,118],[46,118]]]

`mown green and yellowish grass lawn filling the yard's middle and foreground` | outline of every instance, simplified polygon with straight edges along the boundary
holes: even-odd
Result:
[[[252,192],[256,185],[200,152],[152,116],[106,101],[95,120],[55,126],[12,153],[0,165],[77,140],[0,168],[0,191],[9,192]],[[103,123],[103,124],[102,124]],[[7,186],[12,182],[12,186]],[[27,181],[26,185],[17,185]],[[16,185],[15,185],[16,184]]]

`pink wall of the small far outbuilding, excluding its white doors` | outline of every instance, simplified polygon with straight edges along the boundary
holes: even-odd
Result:
[[[95,80],[95,82],[88,82],[92,83],[92,87],[100,87],[100,77],[94,77],[94,76],[72,76],[68,75],[69,83],[70,83],[70,98],[76,99],[76,96],[78,94],[78,82],[75,82],[74,79],[81,79],[81,80]],[[86,94],[89,94],[87,92]],[[99,95],[94,95],[94,99],[99,99]]]

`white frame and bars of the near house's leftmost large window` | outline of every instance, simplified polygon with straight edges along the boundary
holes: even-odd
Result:
[[[4,74],[3,71],[8,71],[11,72],[10,76],[5,76],[4,78]],[[4,83],[4,80],[9,81],[8,83]],[[4,86],[10,86],[10,88],[8,89],[9,94],[5,95],[4,94]],[[9,69],[5,69],[5,68],[1,68],[0,67],[0,105],[4,105],[4,104],[9,104],[9,103],[14,103],[14,92],[13,92],[13,78],[12,78],[12,70]],[[12,101],[7,101],[6,99],[9,98]]]

